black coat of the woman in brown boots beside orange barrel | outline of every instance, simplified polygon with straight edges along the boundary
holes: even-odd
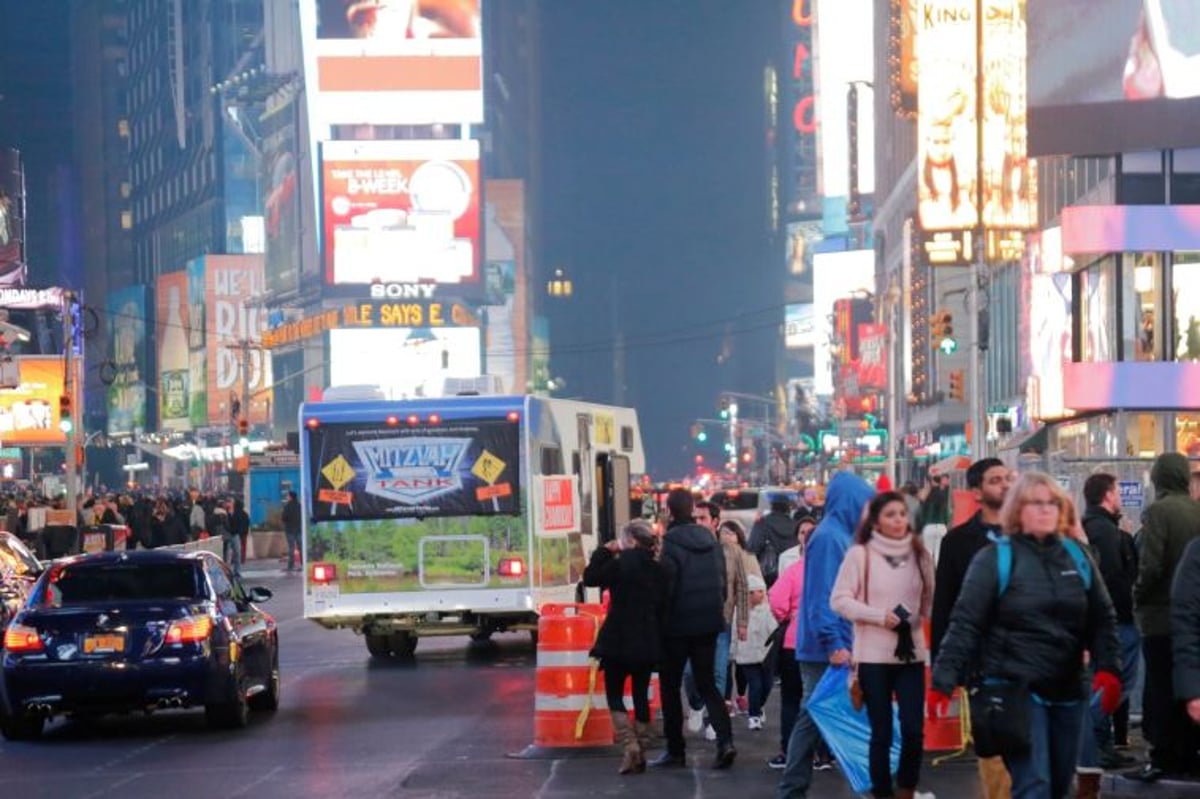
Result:
[[[661,662],[667,581],[653,553],[600,547],[583,570],[583,583],[608,589],[610,597],[592,656],[634,667]]]

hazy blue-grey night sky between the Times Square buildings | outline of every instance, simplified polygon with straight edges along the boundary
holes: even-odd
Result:
[[[716,416],[722,390],[762,394],[774,378],[782,281],[762,85],[779,4],[542,7],[541,259],[576,294],[551,312],[552,371],[565,396],[611,401],[623,330],[650,471],[678,477],[692,420]],[[720,435],[702,452],[719,463]]]

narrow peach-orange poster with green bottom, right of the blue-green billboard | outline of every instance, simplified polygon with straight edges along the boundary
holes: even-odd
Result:
[[[192,429],[190,416],[192,373],[187,348],[191,308],[187,277],[187,271],[167,272],[158,276],[155,288],[154,340],[158,355],[156,360],[161,429]]]

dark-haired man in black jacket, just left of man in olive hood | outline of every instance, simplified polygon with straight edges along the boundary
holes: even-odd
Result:
[[[1129,695],[1138,681],[1141,633],[1133,619],[1133,583],[1138,579],[1138,551],[1133,536],[1117,527],[1121,521],[1121,487],[1111,474],[1097,473],[1084,482],[1084,533],[1100,566],[1104,587],[1109,589],[1117,614],[1117,641],[1121,644],[1121,708],[1105,716],[1092,708],[1091,729],[1096,734],[1098,765],[1114,769],[1130,765],[1114,749],[1112,723],[1120,713],[1129,713]],[[1123,709],[1123,710],[1122,710]],[[1085,738],[1086,740],[1086,738]]]

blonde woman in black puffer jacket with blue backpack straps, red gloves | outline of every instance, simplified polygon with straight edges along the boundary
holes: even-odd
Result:
[[[968,686],[977,751],[990,740],[980,756],[1004,758],[1014,799],[1061,799],[1090,697],[1098,693],[1106,713],[1121,701],[1116,613],[1054,477],[1022,474],[1000,515],[1003,536],[971,561],[930,698],[948,704],[955,686]],[[1091,691],[1085,653],[1096,668]],[[1079,795],[1098,795],[1098,776],[1081,775]]]

